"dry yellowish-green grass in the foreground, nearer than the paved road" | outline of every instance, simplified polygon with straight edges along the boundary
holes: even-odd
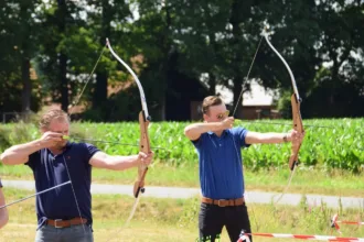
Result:
[[[7,188],[7,200],[24,197],[29,191]],[[125,228],[133,198],[118,195],[93,197],[95,241],[195,241],[197,238],[199,199],[157,199],[142,197],[133,219]],[[364,208],[334,210],[325,206],[308,208],[248,205],[255,232],[340,234],[330,228],[330,218],[339,212],[341,220],[364,218]],[[10,222],[0,230],[0,241],[33,241],[35,235],[34,198],[9,207]],[[364,227],[341,224],[342,237],[364,238]],[[223,230],[222,241],[229,241]],[[293,241],[289,239],[255,238],[255,241]]]

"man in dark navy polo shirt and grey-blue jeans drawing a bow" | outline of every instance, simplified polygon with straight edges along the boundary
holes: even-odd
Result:
[[[116,156],[87,143],[64,140],[69,133],[69,117],[62,110],[46,112],[40,122],[42,138],[14,145],[1,154],[8,165],[25,164],[33,170],[36,191],[67,183],[36,197],[35,242],[90,242],[92,166],[114,170],[148,166],[153,153]]]

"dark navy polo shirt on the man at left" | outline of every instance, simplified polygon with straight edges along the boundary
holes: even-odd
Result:
[[[49,148],[42,148],[29,156],[28,163],[34,174],[36,193],[69,180],[71,184],[36,196],[38,226],[41,228],[47,219],[68,220],[81,216],[93,223],[92,217],[92,166],[89,160],[99,150],[87,143],[67,142],[62,154],[53,155]],[[65,166],[66,165],[66,166]]]

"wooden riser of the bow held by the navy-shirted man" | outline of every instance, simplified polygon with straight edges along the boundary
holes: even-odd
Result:
[[[140,142],[139,150],[144,154],[149,154],[150,151],[150,142],[148,136],[148,127],[149,120],[146,118],[146,113],[141,111],[139,113],[139,127],[140,127]],[[144,178],[148,172],[148,166],[141,165],[138,167],[138,178],[133,185],[133,196],[138,198],[139,193],[144,193]]]

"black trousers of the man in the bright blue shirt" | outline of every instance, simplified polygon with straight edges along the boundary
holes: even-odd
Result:
[[[238,240],[242,230],[244,230],[246,233],[251,232],[248,211],[245,204],[242,206],[229,207],[218,207],[216,205],[201,204],[199,215],[199,241],[220,241],[218,238],[223,231],[224,226],[226,227],[228,237],[233,242]],[[251,240],[251,237],[249,238]]]

